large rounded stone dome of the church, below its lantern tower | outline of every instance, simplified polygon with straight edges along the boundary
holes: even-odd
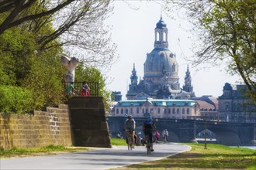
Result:
[[[170,50],[152,50],[144,63],[144,77],[178,76],[178,63]]]

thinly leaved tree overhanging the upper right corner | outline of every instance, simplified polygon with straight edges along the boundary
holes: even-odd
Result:
[[[166,0],[186,9],[202,42],[193,62],[223,62],[228,72],[239,74],[247,95],[256,100],[256,2],[255,0]],[[168,4],[168,7],[171,5]],[[169,8],[170,9],[170,8]],[[198,41],[197,41],[198,42]]]

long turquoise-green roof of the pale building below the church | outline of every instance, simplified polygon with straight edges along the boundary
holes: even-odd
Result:
[[[176,100],[176,99],[145,99],[145,100],[121,100],[116,106],[119,107],[130,107],[130,106],[142,106],[145,102],[154,106],[194,106],[195,100]]]

